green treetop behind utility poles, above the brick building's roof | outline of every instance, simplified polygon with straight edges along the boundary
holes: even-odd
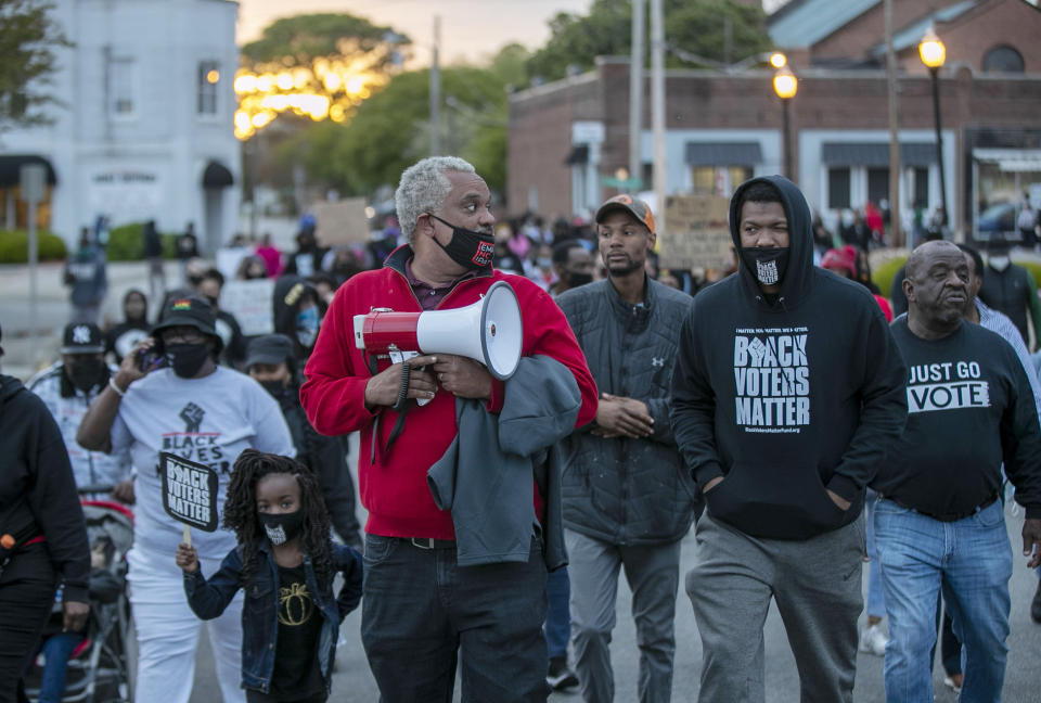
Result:
[[[733,36],[730,61],[771,48],[761,8],[733,0],[665,0],[664,5],[666,41],[686,52],[719,62],[728,60],[723,46],[728,18]],[[547,44],[528,61],[529,80],[556,80],[573,69],[589,71],[596,56],[629,55],[632,3],[630,0],[595,0],[586,16],[557,14],[550,21],[550,31]],[[690,66],[674,56],[668,59],[668,65]]]

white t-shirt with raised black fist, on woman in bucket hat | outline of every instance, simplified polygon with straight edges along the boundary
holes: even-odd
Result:
[[[183,526],[163,509],[158,453],[168,451],[206,464],[219,480],[217,510],[223,512],[231,470],[243,449],[296,456],[279,404],[249,376],[218,367],[202,379],[181,379],[158,369],[134,382],[112,425],[112,447],[130,448],[134,482],[133,540],[174,554]],[[192,532],[201,557],[222,558],[235,547],[232,532]]]

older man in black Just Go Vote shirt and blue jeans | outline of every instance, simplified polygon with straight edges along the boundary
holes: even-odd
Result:
[[[928,242],[908,260],[908,316],[892,333],[909,369],[908,424],[873,484],[889,616],[886,698],[931,701],[930,648],[943,589],[965,646],[963,700],[999,701],[1008,651],[1012,551],[1001,465],[1026,508],[1023,553],[1041,563],[1041,427],[1012,346],[965,324],[965,256]]]

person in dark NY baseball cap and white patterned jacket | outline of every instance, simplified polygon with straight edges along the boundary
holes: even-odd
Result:
[[[62,358],[34,376],[28,388],[47,406],[62,431],[65,449],[73,464],[76,485],[114,486],[115,497],[132,496],[129,485],[130,456],[126,451],[106,455],[83,449],[76,442],[79,423],[87,409],[108,385],[115,367],[105,363],[105,342],[93,322],[73,322],[65,328]],[[126,482],[126,483],[125,483]],[[102,498],[91,494],[90,497]]]

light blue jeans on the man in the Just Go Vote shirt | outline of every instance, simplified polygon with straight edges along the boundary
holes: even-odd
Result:
[[[963,703],[998,703],[1008,647],[1012,548],[1001,501],[943,523],[889,500],[875,506],[875,544],[889,616],[886,699],[931,703],[929,651],[940,589],[962,641]]]

